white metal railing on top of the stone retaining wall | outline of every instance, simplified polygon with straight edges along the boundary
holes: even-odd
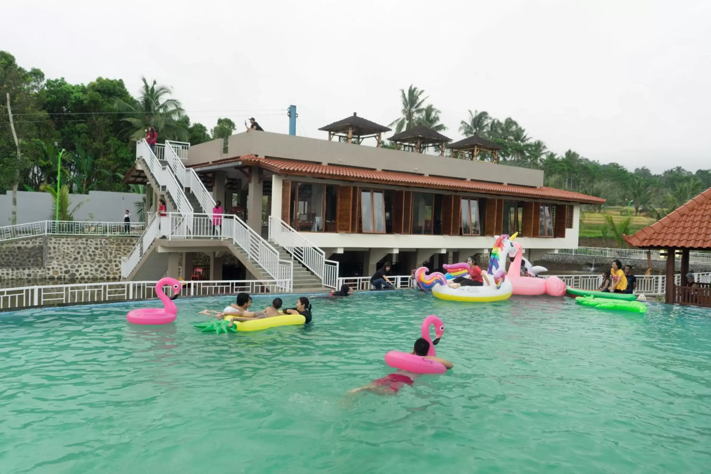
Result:
[[[143,222],[93,222],[90,220],[41,220],[0,227],[0,242],[37,235],[77,235],[101,237],[136,237],[143,232]]]

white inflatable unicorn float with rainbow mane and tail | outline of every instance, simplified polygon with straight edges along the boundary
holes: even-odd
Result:
[[[508,235],[496,236],[496,243],[491,251],[492,256],[496,255],[496,262],[492,262],[493,257],[489,259],[488,272],[486,273],[486,278],[483,279],[482,286],[452,288],[447,285],[447,278],[443,274],[438,272],[427,274],[427,268],[425,267],[415,271],[415,279],[422,289],[429,289],[434,296],[447,301],[486,303],[506,300],[513,294],[513,285],[506,277],[506,264],[503,264],[502,268],[499,262],[506,262],[506,257],[515,255],[515,247],[511,242],[515,238],[515,234],[513,237]],[[448,265],[445,268],[452,274],[452,270],[461,269],[461,264]],[[467,265],[468,268],[469,266]]]

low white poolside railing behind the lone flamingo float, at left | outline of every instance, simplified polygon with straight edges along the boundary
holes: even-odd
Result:
[[[235,280],[185,281],[181,296],[277,293],[286,281]],[[0,289],[0,310],[62,304],[106,303],[156,298],[156,281],[115,281],[109,283],[57,284]]]

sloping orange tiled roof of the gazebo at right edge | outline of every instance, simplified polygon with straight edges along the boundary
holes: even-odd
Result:
[[[624,239],[635,247],[711,249],[711,188]]]

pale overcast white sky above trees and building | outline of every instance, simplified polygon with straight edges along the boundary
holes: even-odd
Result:
[[[48,78],[173,87],[193,122],[297,134],[380,124],[414,84],[461,138],[467,110],[626,168],[711,168],[711,1],[4,2],[0,49]],[[8,15],[9,14],[9,15]],[[387,135],[389,136],[389,135]]]

